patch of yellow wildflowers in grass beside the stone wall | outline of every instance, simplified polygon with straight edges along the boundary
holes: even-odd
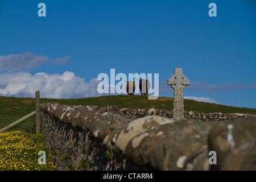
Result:
[[[6,131],[0,133],[0,171],[3,170],[55,170],[56,164],[38,164],[39,151],[48,154],[44,136],[42,133],[30,134],[25,131]]]

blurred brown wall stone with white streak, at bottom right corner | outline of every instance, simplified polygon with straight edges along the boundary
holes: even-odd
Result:
[[[232,126],[232,127],[228,127]],[[216,151],[213,170],[256,170],[255,118],[219,122],[209,133],[209,150]]]

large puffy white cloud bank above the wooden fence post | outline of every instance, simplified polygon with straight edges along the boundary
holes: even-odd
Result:
[[[101,96],[97,92],[100,81],[92,78],[85,82],[84,78],[66,71],[63,75],[47,73],[3,73],[0,74],[0,95],[7,97],[35,97],[40,90],[42,98],[84,98]]]

